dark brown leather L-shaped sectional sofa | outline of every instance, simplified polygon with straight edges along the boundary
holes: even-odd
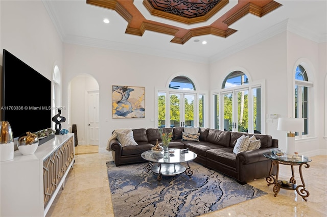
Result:
[[[194,161],[204,167],[215,169],[232,178],[239,183],[245,184],[248,181],[268,176],[271,160],[263,156],[263,153],[278,147],[278,140],[272,139],[271,135],[250,134],[244,132],[221,131],[217,129],[200,128],[200,142],[183,141],[183,127],[162,128],[164,132],[173,133],[173,139],[169,144],[170,148],[189,148],[198,156]],[[122,147],[117,139],[108,141],[112,150],[112,156],[116,166],[123,164],[134,164],[144,162],[141,157],[144,151],[150,150],[160,141],[160,133],[157,128],[133,129],[136,146]],[[251,150],[233,153],[237,139],[243,134],[255,135],[256,139],[261,140],[261,147],[258,150]]]

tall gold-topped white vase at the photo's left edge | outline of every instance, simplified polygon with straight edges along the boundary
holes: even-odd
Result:
[[[0,161],[14,158],[14,140],[8,121],[0,122]]]

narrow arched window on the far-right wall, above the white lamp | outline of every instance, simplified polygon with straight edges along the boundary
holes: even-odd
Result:
[[[309,134],[309,88],[312,83],[308,80],[306,69],[302,65],[297,65],[295,69],[295,118],[305,120],[304,132],[296,132],[296,135]]]

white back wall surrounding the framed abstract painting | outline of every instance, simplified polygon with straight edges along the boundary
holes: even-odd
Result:
[[[194,79],[199,90],[207,90],[208,65],[138,53],[64,44],[63,104],[68,103],[67,87],[79,74],[90,74],[99,83],[100,149],[105,149],[117,128],[155,127],[155,88],[166,87],[172,75]],[[145,87],[145,118],[113,119],[112,85]]]

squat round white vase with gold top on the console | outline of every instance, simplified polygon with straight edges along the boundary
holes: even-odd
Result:
[[[31,132],[26,132],[26,135],[19,137],[17,141],[17,147],[23,155],[34,154],[38,145],[39,138]]]

